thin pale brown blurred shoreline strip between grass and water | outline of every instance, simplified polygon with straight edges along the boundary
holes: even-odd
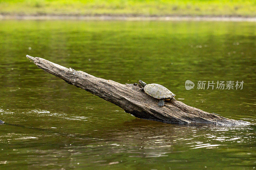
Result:
[[[256,22],[241,16],[129,16],[129,15],[0,15],[0,20],[125,20],[125,21],[234,21]]]

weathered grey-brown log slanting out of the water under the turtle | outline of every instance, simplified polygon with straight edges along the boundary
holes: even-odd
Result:
[[[220,125],[248,124],[242,120],[228,119],[188,106],[178,100],[166,101],[158,107],[158,100],[149,96],[136,85],[120,84],[112,80],[94,77],[83,71],[76,71],[52,63],[40,57],[27,55],[40,69],[56,76],[68,84],[80,87],[100,98],[107,100],[141,119],[166,123],[212,123]]]

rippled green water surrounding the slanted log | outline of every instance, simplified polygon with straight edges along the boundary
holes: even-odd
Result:
[[[27,54],[120,83],[162,84],[190,106],[251,124],[137,119]],[[255,56],[250,22],[2,20],[0,168],[254,169]],[[197,81],[229,80],[243,89],[196,89]]]

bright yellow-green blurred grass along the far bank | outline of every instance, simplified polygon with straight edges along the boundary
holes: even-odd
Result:
[[[256,0],[0,0],[0,13],[256,16]]]

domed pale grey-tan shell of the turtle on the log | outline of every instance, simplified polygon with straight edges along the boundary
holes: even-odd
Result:
[[[170,90],[168,90],[166,87],[164,87],[163,85],[159,85],[159,84],[145,85],[144,91],[148,95],[150,95],[156,99],[164,99],[164,98],[167,99],[167,98],[173,98],[174,96],[176,96]]]

